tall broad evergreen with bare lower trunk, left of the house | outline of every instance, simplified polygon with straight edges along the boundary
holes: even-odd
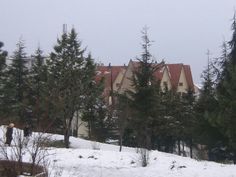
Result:
[[[72,119],[75,112],[81,109],[83,54],[81,42],[77,39],[75,29],[72,29],[69,34],[63,33],[61,39],[57,40],[48,62],[51,115],[63,123],[64,142],[67,148]]]

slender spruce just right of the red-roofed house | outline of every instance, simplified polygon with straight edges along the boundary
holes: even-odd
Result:
[[[197,130],[195,132],[197,143],[207,145],[209,152],[216,147],[217,143],[220,143],[222,138],[222,135],[214,126],[216,121],[214,120],[215,111],[218,106],[214,78],[213,65],[208,61],[208,65],[202,73],[203,87],[196,105]]]

